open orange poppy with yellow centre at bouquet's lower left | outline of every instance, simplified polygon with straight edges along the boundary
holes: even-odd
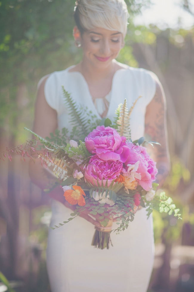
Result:
[[[64,197],[68,203],[71,205],[78,204],[79,206],[84,206],[86,204],[84,197],[86,194],[79,186],[73,186],[73,190],[66,190],[64,192]]]

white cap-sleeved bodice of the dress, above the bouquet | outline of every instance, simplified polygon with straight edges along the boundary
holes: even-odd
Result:
[[[89,110],[100,118],[84,76],[80,72],[70,71],[72,67],[50,74],[44,87],[47,103],[57,111],[59,129],[63,127],[71,129],[68,111],[64,103],[62,86],[70,93],[77,104],[87,106]],[[144,135],[145,111],[155,94],[155,89],[155,76],[152,72],[145,69],[126,66],[126,68],[117,70],[113,76],[107,112],[109,119],[113,120],[118,104],[123,103],[125,98],[127,99],[128,108],[130,108],[138,96],[142,96],[131,115],[132,140],[136,140]]]

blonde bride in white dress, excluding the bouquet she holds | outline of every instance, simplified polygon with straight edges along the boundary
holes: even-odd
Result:
[[[78,0],[74,17],[73,36],[83,51],[82,61],[41,79],[34,131],[46,137],[56,128],[71,128],[61,86],[99,118],[112,119],[125,98],[130,107],[141,95],[131,115],[131,136],[136,140],[145,134],[161,143],[152,151],[161,185],[169,167],[164,93],[153,72],[115,60],[127,31],[124,0]],[[30,175],[42,189],[54,180],[45,174],[39,161],[30,165]],[[65,201],[60,187],[50,196],[54,226],[69,218],[73,206]],[[99,226],[97,217],[85,213],[49,231],[47,270],[52,292],[146,292],[153,269],[154,242],[152,218],[147,220],[145,208],[136,212],[127,230],[111,234],[110,249],[91,246],[94,226]]]

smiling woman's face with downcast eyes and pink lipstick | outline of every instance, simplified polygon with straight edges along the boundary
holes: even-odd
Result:
[[[98,68],[105,68],[118,56],[123,47],[123,36],[119,31],[93,28],[81,35],[83,61]]]

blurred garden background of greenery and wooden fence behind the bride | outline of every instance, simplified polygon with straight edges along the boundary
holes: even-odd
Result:
[[[118,61],[155,72],[164,87],[171,156],[164,190],[183,218],[153,213],[155,264],[148,291],[194,291],[194,1],[126,3],[130,19]],[[24,126],[32,129],[40,78],[81,60],[72,36],[73,8],[74,0],[0,0],[0,151],[30,139]],[[50,292],[50,216],[50,199],[30,183],[27,161],[1,160],[0,292]]]

